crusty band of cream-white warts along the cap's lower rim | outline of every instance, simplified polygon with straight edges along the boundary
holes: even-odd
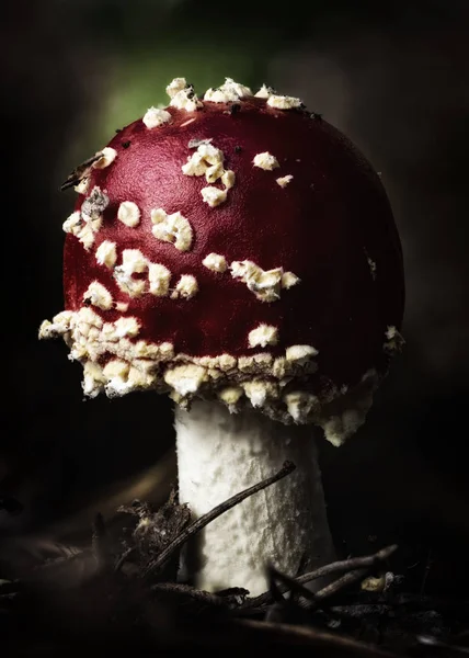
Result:
[[[131,316],[104,322],[90,307],[82,307],[79,311],[58,314],[53,322],[45,320],[39,337],[65,338],[71,360],[83,363],[83,390],[89,397],[103,390],[108,397],[149,388],[163,393],[170,386],[171,397],[186,405],[203,387],[204,395],[213,394],[231,412],[249,400],[251,406],[262,408],[282,422],[318,422],[329,441],[336,445],[343,442],[354,423],[363,422],[378,382],[376,372],[369,371],[363,376],[359,390],[344,396],[343,390],[340,394],[339,388],[333,387],[328,399],[319,400],[310,392],[290,388],[294,378],[301,379],[312,372],[308,359],[317,350],[311,345],[291,345],[288,356],[295,356],[294,361],[283,356],[273,359],[265,352],[238,359],[226,353],[201,358],[180,353],[178,360],[183,362],[175,365],[172,343],[133,341],[138,330],[138,320]],[[103,354],[111,356],[108,363],[113,363],[105,372],[99,364]],[[285,387],[288,388],[285,390]],[[329,402],[333,404],[333,413],[328,411]]]

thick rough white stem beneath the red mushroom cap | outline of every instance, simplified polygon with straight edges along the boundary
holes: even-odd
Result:
[[[268,589],[265,566],[298,575],[333,559],[311,427],[284,426],[218,402],[176,407],[179,496],[194,518],[277,473],[296,469],[209,523],[198,535],[195,585],[207,591]],[[306,560],[306,561],[304,561]]]

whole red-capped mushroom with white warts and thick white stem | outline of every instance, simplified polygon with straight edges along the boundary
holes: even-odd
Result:
[[[88,397],[170,395],[196,517],[296,463],[203,531],[198,586],[258,594],[266,563],[331,557],[313,428],[340,445],[365,420],[402,341],[401,247],[377,173],[298,99],[167,91],[67,183],[66,310],[39,337]]]

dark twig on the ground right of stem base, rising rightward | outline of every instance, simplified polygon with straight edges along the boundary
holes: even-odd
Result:
[[[373,555],[366,555],[364,557],[352,557],[351,559],[343,559],[343,560],[339,560],[335,563],[331,563],[329,565],[324,565],[323,567],[319,567],[318,569],[314,569],[313,571],[310,571],[309,574],[305,574],[304,576],[299,576],[298,578],[295,578],[295,582],[297,585],[305,585],[306,582],[310,582],[311,580],[317,580],[318,578],[322,578],[323,576],[330,576],[331,574],[342,574],[343,571],[352,571],[355,569],[366,569],[366,571],[369,568],[375,567],[376,565],[380,564],[381,561],[385,561],[386,559],[388,559],[396,551],[397,551],[398,546],[397,544],[391,544],[390,546],[386,546],[385,548],[381,548],[380,551],[378,551],[377,553],[374,553]],[[366,574],[365,571],[365,574]],[[363,576],[361,575],[357,579],[359,580],[359,578],[362,578]],[[338,581],[335,581],[338,582]],[[328,587],[332,587],[335,583],[332,583],[331,586]],[[347,585],[347,582],[345,583]],[[286,586],[278,586],[278,589],[282,591],[282,593],[288,591],[288,587]],[[328,590],[328,588],[323,588],[324,590]],[[339,588],[341,589],[341,587]],[[334,592],[332,592],[334,593]],[[319,592],[317,592],[316,597],[318,597]],[[323,598],[330,595],[329,593],[325,593],[325,595],[323,595]],[[255,597],[254,599],[249,599],[243,608],[260,608],[262,605],[267,605],[270,603],[272,603],[273,598],[272,598],[272,593],[268,592],[264,592],[263,594],[260,594],[259,597]]]

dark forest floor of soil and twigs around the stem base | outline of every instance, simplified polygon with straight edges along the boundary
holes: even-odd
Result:
[[[256,598],[242,583],[208,593],[176,581],[180,551],[191,536],[290,470],[285,465],[196,522],[175,494],[157,510],[136,500],[110,524],[99,514],[80,547],[44,549],[28,568],[0,565],[2,655],[147,656],[297,645],[313,647],[316,658],[469,656],[469,597],[427,593],[430,559],[415,588],[393,570],[398,545],[297,578],[271,568],[270,589]],[[328,586],[316,593],[306,589],[323,576]]]

